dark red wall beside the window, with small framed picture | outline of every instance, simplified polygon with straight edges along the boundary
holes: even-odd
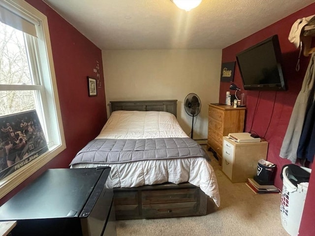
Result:
[[[48,168],[68,168],[74,155],[100,132],[107,120],[104,83],[88,96],[87,76],[96,79],[97,61],[103,82],[101,50],[46,3],[26,0],[48,18],[66,149],[0,200],[0,205]]]

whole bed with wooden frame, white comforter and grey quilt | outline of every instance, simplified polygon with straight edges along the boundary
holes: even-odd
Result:
[[[205,215],[220,206],[207,153],[176,119],[177,100],[113,101],[99,135],[71,168],[110,166],[117,220]]]

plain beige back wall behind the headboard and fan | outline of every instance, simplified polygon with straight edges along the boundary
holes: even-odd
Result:
[[[193,92],[202,104],[193,139],[207,138],[207,104],[219,101],[221,50],[109,50],[102,51],[102,58],[107,105],[117,100],[177,99],[178,121],[189,134],[192,118],[183,102]]]

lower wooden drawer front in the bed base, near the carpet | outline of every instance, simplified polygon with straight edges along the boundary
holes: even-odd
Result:
[[[197,203],[150,204],[142,206],[145,218],[189,216],[197,212]]]

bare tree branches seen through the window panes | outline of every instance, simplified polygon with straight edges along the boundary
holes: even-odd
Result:
[[[0,22],[0,85],[32,84],[24,33]],[[32,90],[1,90],[0,116],[35,109],[34,95]]]

